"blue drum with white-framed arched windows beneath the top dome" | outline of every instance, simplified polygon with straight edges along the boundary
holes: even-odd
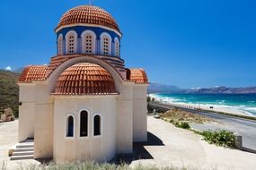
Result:
[[[106,38],[107,41],[104,41]],[[57,32],[57,55],[92,54],[120,57],[119,42],[120,36],[110,30],[82,26],[65,28]]]

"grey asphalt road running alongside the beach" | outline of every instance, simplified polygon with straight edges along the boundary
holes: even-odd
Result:
[[[173,106],[151,103],[150,105],[169,109]],[[177,107],[177,106],[175,106]],[[198,111],[189,108],[180,107],[183,110],[187,110],[191,113],[198,115],[205,115],[216,120],[217,123],[205,123],[205,124],[191,124],[191,127],[200,131],[204,130],[216,130],[225,129],[231,132],[236,132],[238,135],[243,136],[243,147],[256,150],[256,121],[243,119],[240,117],[234,117],[230,115],[219,115],[216,113],[208,113],[204,111]]]

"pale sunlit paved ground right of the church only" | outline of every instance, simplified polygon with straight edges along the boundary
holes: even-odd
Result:
[[[198,134],[178,129],[172,123],[148,117],[148,132],[162,140],[163,145],[145,145],[153,158],[133,161],[131,166],[152,164],[196,169],[256,169],[256,154],[209,145]]]

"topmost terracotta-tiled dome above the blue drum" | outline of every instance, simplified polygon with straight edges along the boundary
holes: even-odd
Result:
[[[57,29],[72,24],[95,24],[119,31],[119,26],[110,13],[97,6],[82,5],[67,11],[60,19]]]

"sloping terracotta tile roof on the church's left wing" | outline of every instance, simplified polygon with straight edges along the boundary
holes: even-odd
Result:
[[[46,79],[47,69],[47,65],[29,65],[22,71],[18,82],[43,81]]]

